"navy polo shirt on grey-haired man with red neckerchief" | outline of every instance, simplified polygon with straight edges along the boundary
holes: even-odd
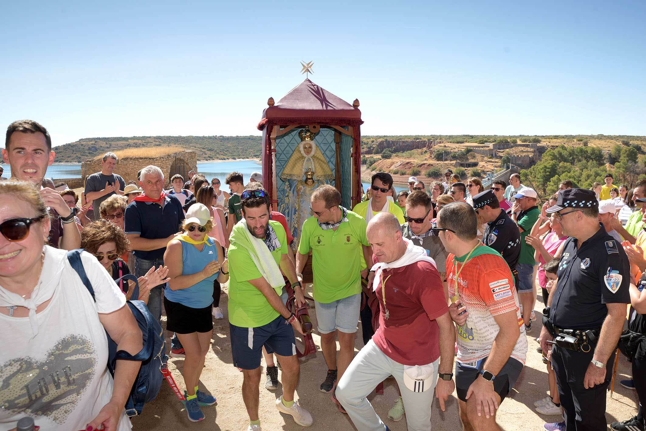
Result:
[[[125,209],[126,235],[139,235],[141,238],[154,240],[178,233],[184,220],[182,204],[172,194],[165,196],[164,200],[163,207],[157,202],[130,202]],[[151,251],[132,250],[132,253],[141,259],[154,260],[163,258],[165,251],[166,247],[161,247]]]

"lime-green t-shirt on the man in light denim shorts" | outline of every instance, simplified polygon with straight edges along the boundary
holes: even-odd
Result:
[[[333,229],[323,230],[311,216],[300,231],[298,253],[307,255],[312,249],[314,299],[323,304],[361,293],[361,262],[363,247],[369,246],[366,220],[348,211],[348,221]]]

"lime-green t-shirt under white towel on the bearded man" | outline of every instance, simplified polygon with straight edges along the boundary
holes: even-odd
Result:
[[[287,234],[280,222],[269,220],[276,232],[280,248],[271,256],[280,264],[280,257],[287,254]],[[257,328],[278,317],[278,311],[267,302],[262,292],[249,280],[260,279],[262,275],[253,262],[249,251],[235,242],[229,247],[229,322],[242,328]]]

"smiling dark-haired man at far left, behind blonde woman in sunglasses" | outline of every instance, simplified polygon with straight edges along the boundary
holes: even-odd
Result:
[[[47,166],[54,163],[56,156],[47,129],[32,120],[14,121],[6,129],[2,155],[11,166],[11,178],[31,182],[41,189],[40,194],[52,215],[48,238],[52,246],[66,250],[81,247],[81,233],[72,210],[54,187],[43,187]]]

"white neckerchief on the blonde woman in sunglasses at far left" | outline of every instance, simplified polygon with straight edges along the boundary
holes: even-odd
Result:
[[[36,284],[36,288],[32,290],[30,298],[23,298],[21,295],[10,292],[0,286],[0,307],[19,306],[27,308],[29,310],[29,323],[32,325],[32,332],[34,333],[33,337],[36,337],[38,334],[36,308],[40,304],[43,304],[43,302],[47,302],[52,299],[64,268],[61,258],[57,258],[52,255],[52,253],[48,252],[48,249],[50,248],[52,247],[43,247],[43,253],[45,253],[43,269]]]

